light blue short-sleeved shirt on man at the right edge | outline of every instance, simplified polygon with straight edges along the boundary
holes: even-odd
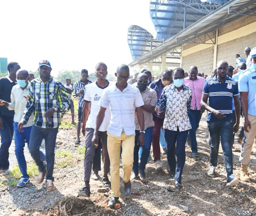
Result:
[[[256,116],[256,70],[253,67],[246,69],[240,74],[238,88],[239,92],[248,92],[248,114]]]

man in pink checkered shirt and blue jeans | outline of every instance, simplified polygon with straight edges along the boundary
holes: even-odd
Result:
[[[190,136],[193,157],[198,157],[196,131],[199,127],[202,113],[204,112],[203,107],[201,107],[201,97],[205,80],[203,77],[197,76],[197,74],[197,67],[191,66],[189,68],[189,76],[184,79],[184,85],[192,90],[190,112],[188,114],[191,129],[189,130],[188,136]]]

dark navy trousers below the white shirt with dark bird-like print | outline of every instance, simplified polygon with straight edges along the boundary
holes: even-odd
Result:
[[[181,175],[186,161],[185,144],[187,140],[188,130],[177,131],[165,129],[165,140],[167,142],[167,160],[170,167],[170,173],[175,173],[175,181],[181,182]],[[176,143],[177,167],[174,156],[174,147]],[[175,170],[176,168],[176,170]]]

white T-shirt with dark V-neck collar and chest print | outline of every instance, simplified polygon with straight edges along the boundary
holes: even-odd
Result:
[[[86,85],[84,93],[84,101],[91,103],[90,114],[86,121],[86,128],[95,129],[96,125],[96,116],[100,110],[99,101],[102,96],[103,90],[107,89],[109,84],[104,88],[98,86],[97,81]],[[110,121],[110,108],[108,107],[105,111],[104,119],[100,125],[99,131],[107,131]]]

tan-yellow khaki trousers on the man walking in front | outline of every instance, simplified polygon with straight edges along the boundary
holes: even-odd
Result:
[[[135,132],[135,131],[134,131]],[[111,133],[108,134],[108,152],[110,159],[110,177],[111,177],[111,189],[112,197],[120,197],[120,151],[122,145],[122,164],[123,164],[123,181],[129,182],[131,177],[131,170],[133,165],[133,151],[134,151],[134,139],[135,133],[127,136],[124,130],[121,136],[115,136]]]

